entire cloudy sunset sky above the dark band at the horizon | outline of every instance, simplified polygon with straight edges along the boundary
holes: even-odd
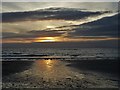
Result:
[[[117,2],[3,2],[2,43],[118,40]]]

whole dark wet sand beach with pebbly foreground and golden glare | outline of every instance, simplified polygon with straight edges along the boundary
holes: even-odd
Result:
[[[118,88],[118,60],[3,61],[3,88]]]

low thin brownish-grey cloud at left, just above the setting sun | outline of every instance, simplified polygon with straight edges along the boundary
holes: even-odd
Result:
[[[46,31],[46,30],[32,30],[25,33],[14,33],[14,32],[3,32],[3,39],[11,39],[11,38],[37,38],[37,37],[58,37],[62,36],[64,32],[62,31]]]

